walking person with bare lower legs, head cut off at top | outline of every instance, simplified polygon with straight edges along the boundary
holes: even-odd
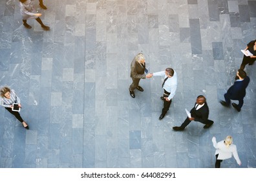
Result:
[[[36,21],[41,25],[41,27],[44,30],[50,30],[50,27],[47,27],[43,24],[43,22],[40,19],[40,16],[42,16],[42,14],[36,13],[36,10],[32,6],[30,0],[19,0],[19,6],[21,6],[20,11],[21,11],[23,25],[25,28],[32,28],[30,25],[28,25],[27,19],[36,19]]]

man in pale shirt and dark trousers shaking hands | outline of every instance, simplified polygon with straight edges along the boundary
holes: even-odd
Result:
[[[175,70],[167,68],[165,71],[155,72],[151,75],[164,76],[164,82],[162,83],[162,87],[164,88],[164,96],[161,97],[161,99],[164,100],[164,108],[162,109],[162,114],[159,117],[159,120],[162,120],[166,112],[169,110],[171,99],[175,95],[177,89],[177,74]]]

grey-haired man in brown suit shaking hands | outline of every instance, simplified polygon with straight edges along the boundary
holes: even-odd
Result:
[[[144,54],[137,54],[133,61],[131,62],[131,78],[133,83],[131,83],[129,87],[130,95],[132,98],[135,98],[134,89],[138,89],[138,91],[143,92],[144,89],[140,87],[140,79],[151,78],[151,74],[144,74],[145,72],[145,57]]]

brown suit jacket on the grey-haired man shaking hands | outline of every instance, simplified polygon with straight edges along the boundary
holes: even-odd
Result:
[[[145,72],[145,63],[144,66],[140,65],[138,61],[134,58],[131,62],[131,78],[135,79],[145,79],[146,75]]]

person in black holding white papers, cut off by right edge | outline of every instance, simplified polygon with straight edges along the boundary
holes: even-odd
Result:
[[[244,55],[244,58],[242,58],[242,63],[240,65],[240,69],[244,70],[245,66],[247,64],[253,65],[254,61],[256,60],[256,39],[253,41],[250,41],[250,43],[247,44],[244,51],[249,50],[252,56],[246,56]]]

